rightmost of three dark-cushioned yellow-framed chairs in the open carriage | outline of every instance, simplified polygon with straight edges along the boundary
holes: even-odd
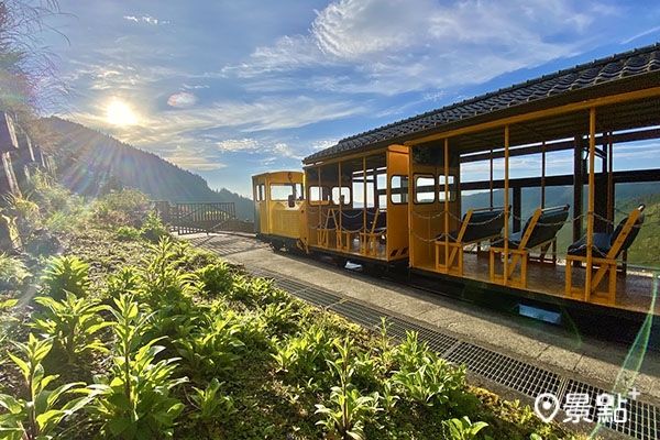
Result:
[[[566,286],[565,294],[572,297],[579,297],[582,300],[590,301],[592,296],[606,304],[616,301],[616,270],[617,258],[630,248],[639,229],[644,223],[645,205],[639,205],[632,209],[628,217],[622,220],[614,232],[596,232],[592,235],[591,264],[597,266],[597,270],[585,274],[584,286],[573,287],[573,263],[580,262],[588,266],[588,244],[587,237],[583,237],[569,246],[566,255]],[[588,267],[587,267],[588,270]],[[607,290],[598,290],[598,286],[609,274]]]

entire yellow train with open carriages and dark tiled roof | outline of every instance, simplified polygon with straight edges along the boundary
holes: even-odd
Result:
[[[660,315],[656,276],[626,265],[645,206],[625,216],[615,208],[617,184],[660,182],[660,169],[613,166],[615,151],[660,138],[658,109],[658,44],[561,70],[344,139],[306,157],[301,173],[253,176],[256,232],[340,264]],[[558,153],[572,163],[550,174]],[[520,158],[538,163],[538,175],[512,177]],[[476,167],[490,178],[474,179]],[[572,202],[553,206],[550,187],[565,188]],[[536,209],[524,217],[529,188]],[[464,207],[477,191],[490,202]],[[572,237],[568,249],[558,249],[560,231]]]

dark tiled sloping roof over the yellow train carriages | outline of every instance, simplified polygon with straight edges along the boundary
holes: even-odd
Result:
[[[531,111],[552,109],[603,96],[618,95],[660,86],[660,44],[637,48],[592,63],[557,72],[505,89],[450,105],[424,114],[377,128],[339,141],[336,145],[305,157],[305,164],[348,153],[405,143],[462,127]],[[628,130],[660,123],[657,109],[660,100],[641,99],[625,106],[612,106],[601,117],[598,129]],[[581,134],[588,128],[588,113],[554,114],[527,122],[524,129],[512,132],[512,144],[521,145]],[[480,132],[477,140],[461,141],[461,152],[497,147],[501,130]]]

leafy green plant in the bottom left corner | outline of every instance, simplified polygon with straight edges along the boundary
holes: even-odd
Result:
[[[62,422],[80,410],[90,400],[89,389],[84,383],[68,383],[53,391],[46,389],[57,375],[46,375],[42,361],[53,348],[53,340],[40,340],[30,334],[26,343],[14,342],[22,356],[8,353],[19,367],[25,385],[26,398],[0,394],[0,438],[9,440],[53,439],[64,433]],[[59,405],[68,394],[84,396]]]

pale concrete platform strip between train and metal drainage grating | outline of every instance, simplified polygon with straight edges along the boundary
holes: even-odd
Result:
[[[231,263],[263,268],[316,286],[389,316],[557,373],[564,382],[569,378],[569,383],[578,381],[597,389],[624,393],[634,386],[639,393],[637,402],[649,404],[653,413],[650,421],[644,422],[660,427],[660,413],[657,411],[660,408],[660,353],[647,351],[645,346],[587,338],[531,318],[424,293],[305,256],[275,253],[249,235],[184,238]],[[614,433],[608,429],[601,433],[605,432]]]

